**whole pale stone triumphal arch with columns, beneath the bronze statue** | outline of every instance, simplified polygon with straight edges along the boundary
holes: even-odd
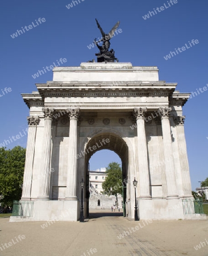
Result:
[[[55,67],[53,81],[22,94],[30,108],[22,201],[31,220],[77,221],[81,185],[88,214],[88,162],[109,149],[122,160],[126,217],[184,218],[192,199],[182,106],[189,93],[159,80],[157,67],[81,63]]]

